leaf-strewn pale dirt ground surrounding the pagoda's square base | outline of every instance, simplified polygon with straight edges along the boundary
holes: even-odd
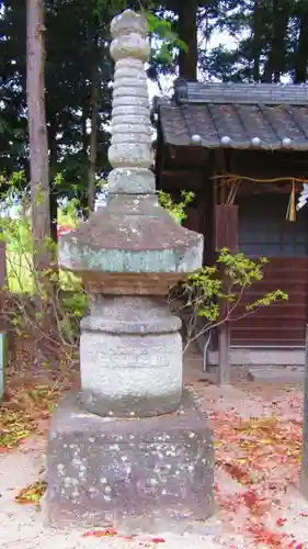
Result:
[[[67,379],[56,384],[53,381],[46,389],[46,380],[45,384],[35,380],[32,385],[30,380],[16,383],[13,376],[2,421],[5,416],[9,437],[14,418],[23,440],[15,446],[15,433],[11,445],[10,439],[0,444],[1,549],[135,549],[157,545],[166,549],[308,549],[308,502],[298,492],[303,388],[260,385],[235,373],[231,385],[218,388],[214,379],[202,374],[201,359],[194,354],[186,359],[184,370],[185,383],[196,392],[214,428],[215,516],[192,524],[192,531],[184,537],[145,533],[132,539],[113,531],[52,530],[43,524],[39,505],[15,501],[22,489],[44,478],[50,411],[61,390],[78,381],[73,374],[69,383]],[[8,445],[13,448],[8,449]]]

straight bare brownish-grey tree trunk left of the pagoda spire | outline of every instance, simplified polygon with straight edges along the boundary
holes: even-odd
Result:
[[[34,267],[50,266],[46,239],[50,235],[48,144],[44,79],[44,0],[26,2],[26,97],[31,173],[31,210]]]

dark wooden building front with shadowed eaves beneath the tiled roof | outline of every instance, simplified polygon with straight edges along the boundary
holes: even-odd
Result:
[[[174,189],[178,192],[181,189],[195,192],[196,199],[184,225],[204,234],[205,264],[213,262],[217,244],[219,227],[218,220],[215,221],[215,205],[224,203],[224,197],[217,192],[218,182],[215,180],[214,183],[213,176],[233,172],[264,179],[306,177],[308,173],[307,155],[303,153],[231,150],[221,159],[216,158],[214,152],[208,152],[206,158],[198,156],[198,161],[191,156],[193,153],[189,149],[185,154],[183,150],[174,153],[167,148],[157,164],[157,183],[158,188],[167,192]],[[237,323],[232,322],[231,343],[248,346],[304,345],[308,320],[308,205],[300,212],[297,222],[287,222],[290,186],[286,183],[275,188],[263,184],[244,183],[236,199],[239,249],[251,257],[265,255],[270,259],[264,279],[246,293],[246,300],[252,302],[269,291],[280,289],[288,294],[288,301],[261,309]],[[284,197],[280,201],[281,193]],[[220,228],[223,237],[224,227]],[[244,312],[243,303],[237,316]]]

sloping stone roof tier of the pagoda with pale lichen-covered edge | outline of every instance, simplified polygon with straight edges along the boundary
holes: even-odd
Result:
[[[61,236],[59,261],[73,271],[192,272],[203,236],[178,223],[151,195],[111,197],[107,206]]]

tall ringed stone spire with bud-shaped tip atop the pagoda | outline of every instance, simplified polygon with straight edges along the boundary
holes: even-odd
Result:
[[[148,25],[141,15],[127,10],[111,25],[115,60],[112,142],[109,159],[115,168],[109,177],[112,193],[152,193],[151,125],[147,76]]]

